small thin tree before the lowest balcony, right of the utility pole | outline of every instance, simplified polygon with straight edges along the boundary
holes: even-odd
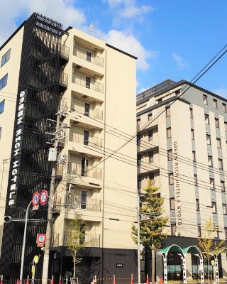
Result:
[[[84,249],[85,240],[85,225],[80,219],[70,220],[70,226],[66,229],[67,237],[65,239],[65,246],[72,252],[73,278],[76,277],[76,265],[82,261],[82,258],[77,257],[77,252]]]

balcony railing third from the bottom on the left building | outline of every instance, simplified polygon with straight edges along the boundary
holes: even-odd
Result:
[[[70,168],[70,174],[72,175],[81,175],[83,177],[89,177],[89,178],[96,178],[97,180],[101,180],[101,174],[102,174],[102,168],[98,167],[88,167],[82,169],[81,164],[77,163],[69,163],[69,168]]]

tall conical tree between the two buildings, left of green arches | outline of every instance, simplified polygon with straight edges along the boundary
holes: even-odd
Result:
[[[162,241],[167,237],[163,233],[168,217],[163,216],[164,199],[158,194],[160,188],[148,181],[148,186],[143,188],[145,194],[140,200],[140,242],[148,246],[152,253],[152,283],[155,284],[155,251],[160,249]],[[132,238],[137,243],[137,228],[132,227]]]

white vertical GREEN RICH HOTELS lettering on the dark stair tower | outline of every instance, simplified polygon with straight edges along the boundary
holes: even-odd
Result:
[[[16,204],[16,194],[18,190],[18,174],[21,164],[21,148],[23,136],[23,118],[25,111],[26,91],[19,94],[19,102],[16,114],[16,124],[11,158],[11,179],[9,182],[9,207]]]

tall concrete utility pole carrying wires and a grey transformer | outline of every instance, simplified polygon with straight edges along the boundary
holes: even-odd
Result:
[[[57,112],[57,122],[56,122],[56,131],[55,131],[55,151],[57,151],[58,143],[58,130],[60,128],[60,112]],[[56,164],[56,163],[55,163]],[[48,269],[49,269],[49,259],[50,259],[50,244],[52,236],[52,198],[54,197],[55,192],[55,182],[56,182],[56,172],[57,168],[54,165],[51,172],[51,181],[50,181],[50,196],[48,203],[48,225],[45,233],[45,250],[43,257],[43,277],[42,283],[48,284]]]

